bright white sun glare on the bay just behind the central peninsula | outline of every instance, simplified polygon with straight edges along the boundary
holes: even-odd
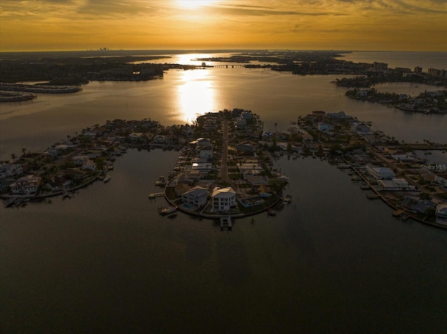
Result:
[[[191,123],[197,116],[212,112],[214,84],[209,70],[185,70],[178,86],[179,116]]]

